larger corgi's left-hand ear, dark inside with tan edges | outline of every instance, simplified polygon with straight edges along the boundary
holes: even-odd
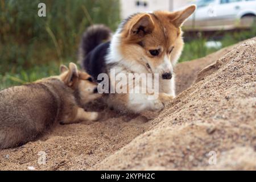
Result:
[[[143,37],[154,30],[154,22],[149,14],[139,17],[130,29],[130,36]]]

